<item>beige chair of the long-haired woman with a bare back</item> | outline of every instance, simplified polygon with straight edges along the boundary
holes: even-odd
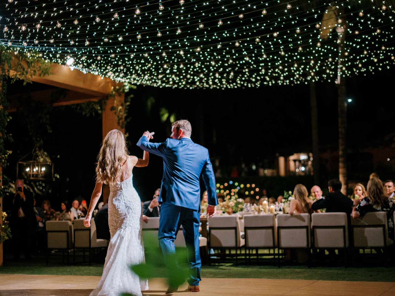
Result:
[[[305,249],[310,264],[310,214],[278,214],[277,239],[280,249]],[[280,266],[280,256],[278,256]]]

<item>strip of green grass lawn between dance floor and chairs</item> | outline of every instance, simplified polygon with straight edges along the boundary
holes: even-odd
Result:
[[[70,256],[72,261],[72,257]],[[81,257],[78,258],[81,260]],[[76,264],[63,265],[61,257],[51,257],[45,265],[45,257],[36,257],[31,261],[21,259],[19,262],[6,260],[0,267],[1,274],[48,274],[48,275],[102,275],[103,264],[91,266]],[[158,270],[152,277],[163,277],[164,270]],[[316,279],[329,281],[395,281],[395,268],[391,267],[314,267],[275,265],[250,266],[231,263],[214,263],[203,265],[201,277],[205,278],[266,278],[266,279]]]

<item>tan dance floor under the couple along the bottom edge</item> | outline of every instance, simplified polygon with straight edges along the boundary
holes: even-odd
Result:
[[[100,277],[79,275],[0,274],[0,295],[88,296]],[[163,279],[152,279],[143,295],[164,295]],[[176,296],[190,294],[183,285]],[[395,295],[395,282],[315,281],[290,279],[203,279],[195,296],[263,295]]]

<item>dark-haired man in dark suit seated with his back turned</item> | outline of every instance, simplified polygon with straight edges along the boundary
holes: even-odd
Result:
[[[340,192],[342,189],[342,183],[339,180],[329,180],[328,182],[329,194],[325,199],[316,200],[311,208],[316,211],[320,209],[326,209],[327,213],[343,212],[350,217],[352,210],[352,200],[346,197]]]

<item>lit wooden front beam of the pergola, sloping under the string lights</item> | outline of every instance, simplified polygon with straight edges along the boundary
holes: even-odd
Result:
[[[17,67],[18,60],[15,57],[11,62],[11,75],[13,70]],[[22,62],[27,66],[26,62]],[[51,63],[51,75],[40,77],[38,75],[32,77],[32,81],[68,90],[82,92],[92,96],[103,97],[109,94],[113,87],[121,86],[122,83],[113,81],[106,77],[100,77],[92,73],[86,73],[72,69],[68,66]]]

